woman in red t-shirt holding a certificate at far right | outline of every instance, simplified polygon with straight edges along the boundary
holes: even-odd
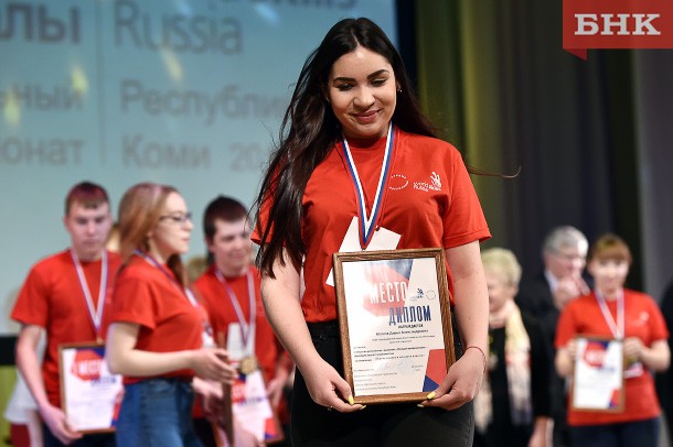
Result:
[[[578,411],[568,405],[568,425],[576,446],[658,446],[661,408],[650,371],[669,368],[669,331],[654,299],[623,287],[630,265],[631,252],[623,240],[615,235],[599,238],[589,250],[587,263],[594,291],[569,303],[558,320],[559,375],[571,375],[574,337],[623,339],[623,411]]]

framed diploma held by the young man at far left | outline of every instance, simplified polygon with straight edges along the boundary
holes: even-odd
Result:
[[[105,362],[103,344],[58,347],[61,402],[68,423],[81,433],[113,432],[124,385]]]

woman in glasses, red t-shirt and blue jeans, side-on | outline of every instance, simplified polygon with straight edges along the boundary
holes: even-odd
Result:
[[[121,198],[124,265],[106,350],[110,371],[124,374],[119,446],[200,446],[193,391],[213,397],[221,388],[209,380],[235,377],[226,351],[209,347],[207,316],[185,287],[180,254],[189,249],[192,228],[184,199],[171,186],[142,183]]]

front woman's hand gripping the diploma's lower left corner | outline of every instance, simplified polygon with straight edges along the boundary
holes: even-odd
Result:
[[[364,408],[352,404],[351,385],[324,360],[317,359],[301,371],[311,399],[329,410],[350,413]]]

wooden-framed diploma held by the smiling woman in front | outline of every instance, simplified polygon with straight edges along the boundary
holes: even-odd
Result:
[[[426,400],[456,361],[444,249],[334,253],[333,261],[354,401]]]

